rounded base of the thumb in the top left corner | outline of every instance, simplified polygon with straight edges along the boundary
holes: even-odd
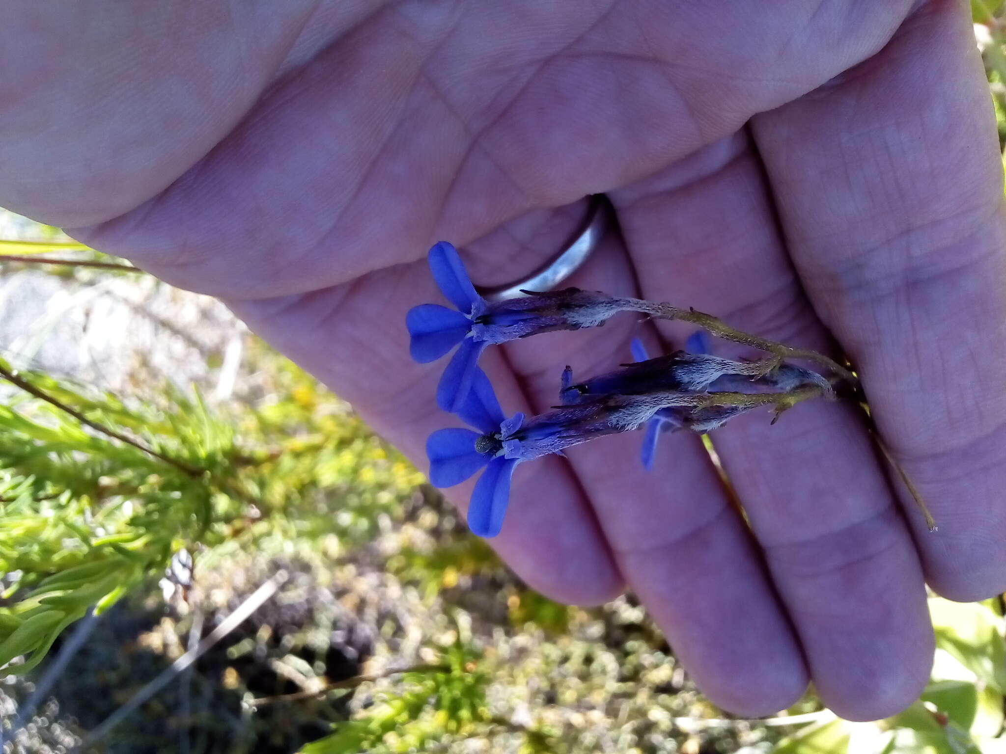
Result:
[[[303,6],[303,3],[299,5]],[[7,145],[3,157],[0,157],[0,161],[7,163],[8,175],[8,185],[4,187],[5,194],[2,201],[4,206],[29,212],[32,206],[38,206],[40,202],[46,206],[59,202],[62,205],[61,211],[57,211],[58,216],[49,219],[61,225],[76,225],[110,218],[135,207],[139,199],[163,189],[183,172],[185,167],[205,154],[213,142],[232,127],[240,117],[240,109],[250,107],[250,101],[237,103],[230,97],[232,86],[228,84],[227,78],[232,76],[228,68],[230,59],[224,54],[226,48],[220,45],[198,44],[200,34],[211,33],[213,24],[221,22],[220,14],[212,9],[212,5],[202,6],[198,11],[192,10],[189,14],[197,16],[201,21],[198,33],[194,32],[197,25],[190,24],[187,27],[189,46],[192,46],[193,37],[197,42],[197,49],[192,56],[174,54],[177,50],[176,46],[171,44],[171,36],[173,33],[182,33],[182,26],[186,21],[182,20],[182,16],[175,15],[169,7],[165,6],[161,11],[162,14],[168,14],[163,23],[159,21],[164,16],[150,18],[149,9],[146,11],[148,17],[144,19],[145,22],[139,23],[139,19],[132,17],[132,13],[110,14],[109,6],[110,3],[96,3],[89,11],[87,20],[72,29],[72,40],[68,42],[66,39],[51,40],[55,43],[49,48],[62,48],[72,53],[69,57],[74,60],[90,56],[97,64],[75,66],[73,70],[67,72],[65,60],[69,59],[68,57],[63,56],[61,58],[63,63],[60,64],[58,56],[46,55],[45,59],[50,62],[49,70],[52,71],[52,85],[47,88],[44,81],[36,85],[36,76],[33,72],[36,66],[29,64],[26,71],[20,70],[21,61],[30,59],[31,55],[15,55],[14,51],[19,49],[25,39],[68,34],[70,25],[65,18],[57,23],[52,23],[51,19],[46,23],[39,18],[38,26],[41,28],[34,36],[16,35],[14,33],[16,26],[7,27],[11,33],[11,43],[0,47],[6,46],[12,53],[3,63],[7,73],[4,77],[20,83],[26,91],[34,92],[34,97],[40,99],[41,103],[35,103],[30,108],[27,107],[28,103],[23,103],[27,108],[26,111],[6,109],[6,118],[0,119],[6,122],[0,126],[0,131],[5,137],[0,142]],[[268,77],[274,59],[276,64],[279,64],[279,58],[285,53],[287,45],[293,42],[298,28],[308,15],[308,10],[304,7],[294,8],[293,3],[289,4],[289,7],[293,8],[293,11],[283,20],[270,26],[272,36],[262,37],[263,49],[260,50],[262,77]],[[44,11],[40,12],[40,15],[44,16]],[[103,15],[112,16],[112,22],[102,23]],[[17,20],[16,14],[11,20]],[[131,24],[135,28],[131,27]],[[229,33],[230,29],[215,31],[221,32],[224,38],[234,36],[233,33]],[[122,38],[117,35],[121,35]],[[97,45],[89,45],[89,40],[94,41],[95,36],[98,36],[100,41]],[[145,43],[146,37],[153,39],[146,39],[149,43]],[[270,48],[270,44],[275,46]],[[170,51],[166,48],[170,48]],[[138,53],[136,64],[122,69],[124,56],[134,53]],[[198,81],[189,82],[198,85],[174,85],[172,75],[177,76],[180,71],[188,70],[189,60],[200,57],[212,58],[205,62],[208,67],[220,71],[218,75],[223,78],[214,80],[212,77],[203,77]],[[161,60],[165,63],[161,83],[161,88],[164,90],[160,92],[162,97],[152,98],[152,102],[145,104],[146,107],[141,109],[138,107],[138,101],[146,98],[150,89],[143,85],[142,76],[138,76],[137,72],[142,71],[152,60]],[[117,74],[117,70],[122,75]],[[65,97],[45,97],[42,93],[51,90],[53,85],[62,84],[67,77],[77,85],[73,86]],[[100,97],[94,97],[96,92],[101,93],[105,83],[111,86],[107,88],[107,96],[115,100],[115,107],[107,107],[108,104],[103,104]],[[246,86],[256,90],[259,88],[250,82]],[[89,97],[82,99],[79,92],[87,92]],[[171,96],[163,97],[166,92]],[[193,108],[189,101],[196,92],[204,93],[207,99],[200,103],[202,107]],[[184,96],[185,101],[180,102],[179,95]],[[54,111],[57,107],[65,109],[81,103],[81,112],[74,113],[71,121],[65,118],[64,114]],[[182,126],[180,131],[182,134],[190,135],[192,140],[199,141],[198,147],[186,145],[184,139],[172,141],[163,138],[164,118],[177,112],[178,107],[193,111],[187,114],[188,117],[180,124]],[[30,148],[30,144],[25,149],[17,147],[22,142],[27,143],[35,138],[36,132],[19,133],[15,130],[11,134],[4,128],[8,124],[16,127],[17,118],[23,117],[22,112],[43,118],[47,123],[47,138],[53,146],[43,150],[40,156]],[[224,114],[223,117],[220,115],[221,112]],[[161,114],[160,117],[158,113]],[[112,128],[109,128],[109,121],[113,123]],[[56,130],[67,122],[72,123],[73,133],[70,137],[65,137],[62,131]],[[100,130],[85,128],[91,122],[103,123],[104,127]],[[176,132],[170,133],[174,136]],[[96,146],[110,143],[111,138],[116,140],[117,148],[107,154],[98,154]],[[155,144],[158,149],[152,151],[151,146]],[[131,145],[135,148],[129,148]],[[72,152],[66,155],[64,150]],[[160,170],[144,169],[144,163],[151,160],[158,151],[160,155],[157,164]],[[22,161],[31,161],[31,169],[21,169]],[[81,181],[78,174],[75,176],[76,180],[73,180],[74,171],[80,170],[86,170],[85,180]],[[150,185],[141,181],[139,176],[143,176]],[[154,176],[156,182],[153,180]],[[27,190],[27,195],[24,195],[28,184],[23,183],[22,178],[28,177],[37,188]],[[11,182],[14,183],[13,186],[9,185]],[[47,184],[52,185],[55,190],[46,191]],[[123,200],[124,191],[133,192],[128,198],[128,206]],[[138,197],[137,192],[140,191],[145,192],[146,196]],[[34,214],[37,216],[38,212]]]

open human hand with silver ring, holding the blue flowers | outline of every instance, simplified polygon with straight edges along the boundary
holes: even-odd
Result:
[[[220,296],[423,462],[454,423],[403,327],[438,301],[431,242],[507,281],[608,193],[621,234],[569,284],[837,342],[940,531],[900,512],[854,411],[808,404],[717,430],[749,530],[696,437],[650,474],[611,437],[522,467],[494,547],[557,599],[628,585],[732,712],[812,679],[885,716],[928,677],[924,574],[956,599],[1006,587],[995,130],[956,3],[766,7],[25,3],[0,30],[0,204]],[[638,333],[482,365],[508,413],[540,411],[564,364],[607,369]]]

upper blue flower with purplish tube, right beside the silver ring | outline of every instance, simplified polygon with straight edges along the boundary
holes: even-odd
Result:
[[[621,311],[620,300],[574,288],[488,302],[476,292],[452,244],[434,244],[429,261],[434,280],[456,309],[423,304],[408,311],[405,325],[409,353],[421,364],[459,347],[437,386],[437,404],[445,411],[460,410],[487,346],[554,330],[597,327]]]

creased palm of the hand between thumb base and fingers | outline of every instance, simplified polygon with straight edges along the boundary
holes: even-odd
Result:
[[[396,4],[288,71],[163,194],[74,235],[229,298],[346,282],[732,133],[878,49],[909,2]],[[118,165],[107,141],[89,157]]]

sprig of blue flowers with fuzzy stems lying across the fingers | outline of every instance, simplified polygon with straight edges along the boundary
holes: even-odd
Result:
[[[424,304],[406,316],[410,353],[421,363],[457,349],[437,388],[437,403],[456,413],[472,429],[440,429],[430,435],[427,454],[435,487],[458,485],[484,467],[468,509],[471,530],[494,537],[503,526],[510,480],[518,463],[608,434],[645,427],[643,464],[654,461],[662,431],[707,432],[762,406],[783,411],[815,398],[860,400],[857,377],[816,351],[791,348],[731,328],[701,312],[640,299],[567,288],[522,292],[517,299],[489,302],[478,295],[455,247],[441,241],[429,254],[434,279],[456,309]],[[566,367],[558,386],[560,405],[537,416],[507,416],[492,385],[478,367],[490,345],[556,330],[598,327],[620,312],[697,325],[686,350],[649,358],[642,343],[633,344],[635,363],[573,383]],[[709,353],[707,334],[769,354],[738,361]],[[820,371],[791,359],[815,364]],[[879,440],[878,440],[879,441]],[[888,455],[889,457],[889,455]],[[935,528],[914,489],[897,469]]]

